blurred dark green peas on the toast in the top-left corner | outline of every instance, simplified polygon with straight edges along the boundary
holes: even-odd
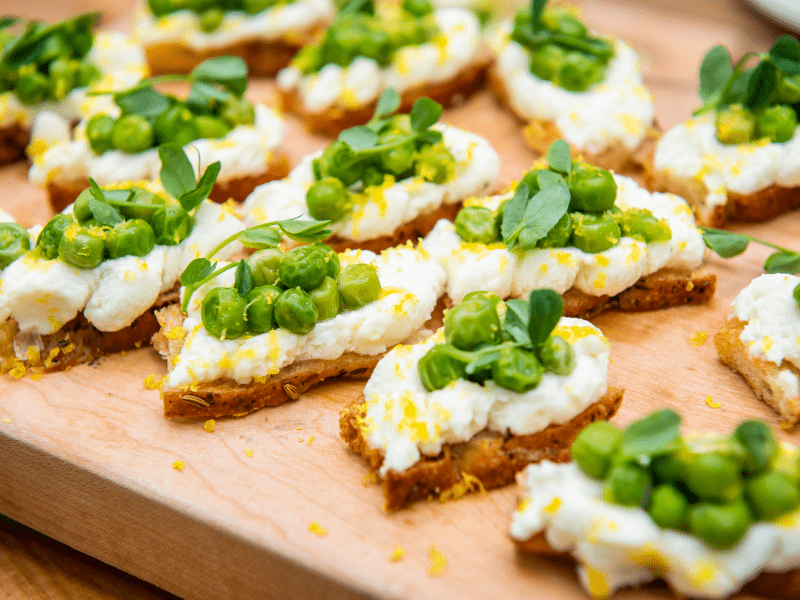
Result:
[[[44,23],[35,27],[43,29]],[[35,29],[34,29],[35,31]],[[0,73],[0,92],[12,91],[22,104],[58,102],[75,88],[101,77],[100,69],[86,58],[94,43],[91,27],[78,31],[57,29],[46,36],[35,60]]]

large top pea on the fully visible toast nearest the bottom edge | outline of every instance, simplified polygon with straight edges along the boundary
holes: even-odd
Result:
[[[500,341],[500,317],[496,303],[480,296],[462,300],[445,315],[444,337],[461,350],[497,344]]]

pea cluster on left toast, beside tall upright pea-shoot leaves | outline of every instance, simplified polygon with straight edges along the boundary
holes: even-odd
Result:
[[[72,214],[50,219],[36,240],[36,252],[47,260],[56,258],[82,269],[93,269],[104,260],[124,256],[146,256],[156,244],[174,246],[194,227],[194,219],[183,208],[139,187],[106,190],[105,194],[125,199],[130,206],[116,206],[124,220],[114,226],[94,218],[89,202],[91,190],[81,192]]]

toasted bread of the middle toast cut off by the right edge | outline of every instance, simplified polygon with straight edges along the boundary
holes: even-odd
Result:
[[[740,336],[747,323],[731,317],[724,321],[714,336],[720,360],[738,371],[753,388],[755,395],[781,417],[781,426],[791,429],[800,421],[800,397],[789,398],[781,390],[778,375],[789,370],[800,376],[800,369],[784,360],[781,365],[750,356]]]

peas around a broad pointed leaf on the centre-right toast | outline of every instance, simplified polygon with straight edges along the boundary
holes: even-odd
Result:
[[[533,169],[522,178],[531,194],[540,191],[538,175],[541,171]],[[596,254],[616,246],[622,236],[646,243],[672,238],[669,224],[657,219],[651,211],[643,208],[621,210],[615,206],[617,184],[605,169],[574,162],[567,188],[570,193],[568,212],[541,239],[528,241],[523,232],[519,240],[523,250],[574,246],[583,252]],[[455,220],[458,236],[468,243],[501,242],[505,202],[494,211],[479,206],[462,208]]]

